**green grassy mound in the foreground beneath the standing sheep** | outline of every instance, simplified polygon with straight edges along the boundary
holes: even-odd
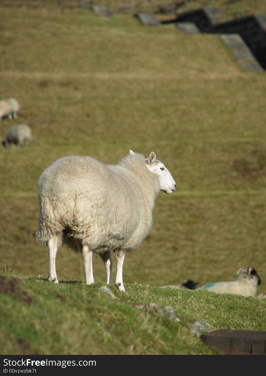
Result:
[[[219,351],[190,332],[196,320],[206,320],[213,329],[266,329],[265,302],[255,298],[129,284],[126,293],[112,287],[112,299],[98,290],[100,282],[54,285],[40,277],[15,277],[34,300],[27,304],[19,294],[1,296],[3,354],[211,355]],[[171,306],[181,321],[136,307],[151,302]]]

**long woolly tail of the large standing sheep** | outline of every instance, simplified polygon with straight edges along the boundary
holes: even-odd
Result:
[[[56,220],[54,209],[48,197],[38,197],[40,205],[39,227],[36,231],[36,239],[47,245],[51,238],[57,237],[59,245],[62,243],[63,226]]]

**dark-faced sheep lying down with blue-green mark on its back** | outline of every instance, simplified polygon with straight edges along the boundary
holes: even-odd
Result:
[[[243,296],[256,296],[260,277],[252,267],[240,268],[236,272],[237,280],[229,282],[216,282],[201,286],[196,290],[215,291],[216,293],[239,294]]]

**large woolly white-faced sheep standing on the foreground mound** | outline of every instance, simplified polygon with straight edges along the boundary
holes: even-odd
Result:
[[[130,150],[117,165],[105,165],[89,156],[66,156],[55,161],[38,180],[36,238],[48,246],[48,280],[58,283],[56,252],[66,244],[83,253],[87,285],[94,282],[93,253],[100,255],[106,283],[112,284],[110,253],[116,252],[115,286],[125,291],[125,252],[136,249],[148,235],[160,190],[171,194],[175,186],[154,152],[145,159]]]

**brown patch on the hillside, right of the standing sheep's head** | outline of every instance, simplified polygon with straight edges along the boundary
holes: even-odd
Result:
[[[251,153],[249,159],[235,159],[233,168],[248,180],[258,179],[265,173],[266,155],[256,150]]]

